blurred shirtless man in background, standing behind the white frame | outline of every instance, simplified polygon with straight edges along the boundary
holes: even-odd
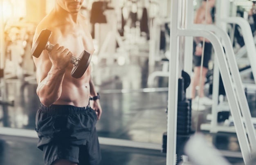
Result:
[[[211,8],[215,5],[215,0],[209,0],[207,5],[207,0],[203,0],[201,6],[195,13],[195,24],[212,24],[213,20],[211,17]],[[207,10],[207,16],[205,17],[205,12]],[[205,39],[205,46],[204,46],[204,59],[203,59],[203,67],[202,67],[202,79],[200,83],[200,69],[201,69],[201,59],[202,59],[202,37],[195,37],[195,52],[193,55],[193,62],[195,64],[194,68],[194,75],[191,82],[191,92],[192,92],[192,109],[193,110],[204,110],[204,105],[211,105],[212,100],[208,97],[204,96],[204,82],[208,72],[208,63],[211,59],[211,49],[212,45],[209,40]],[[200,86],[201,84],[201,86]],[[198,96],[195,97],[196,86],[200,86],[200,93]],[[199,106],[198,106],[199,101]]]

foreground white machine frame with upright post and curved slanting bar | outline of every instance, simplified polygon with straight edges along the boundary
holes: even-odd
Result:
[[[189,4],[190,3],[190,4]],[[186,0],[186,4],[191,7],[193,6],[192,1]],[[175,164],[175,153],[176,153],[176,133],[177,133],[177,88],[178,88],[178,72],[179,72],[179,51],[178,51],[178,43],[179,43],[179,37],[180,36],[193,36],[193,37],[205,37],[207,38],[211,44],[213,45],[213,48],[216,52],[216,59],[218,61],[219,67],[220,67],[220,74],[222,75],[223,84],[225,87],[227,99],[229,100],[229,106],[231,108],[231,114],[234,117],[234,125],[238,136],[238,141],[240,144],[241,153],[243,155],[243,160],[245,164],[248,164],[251,159],[251,152],[255,151],[255,147],[250,147],[249,141],[252,144],[256,142],[255,136],[252,137],[252,135],[249,135],[249,140],[247,139],[246,131],[254,132],[254,129],[251,129],[252,121],[250,120],[250,114],[247,114],[246,105],[243,103],[241,104],[241,101],[243,101],[244,96],[238,95],[238,93],[235,91],[240,90],[239,88],[243,87],[241,86],[240,82],[240,76],[238,72],[238,67],[236,65],[232,65],[232,62],[235,61],[234,57],[234,51],[231,47],[231,42],[229,37],[227,35],[222,36],[222,40],[225,42],[225,50],[227,53],[227,56],[229,56],[226,59],[226,55],[224,53],[222,44],[218,37],[213,34],[211,31],[204,30],[204,29],[195,29],[195,26],[188,27],[187,29],[180,29],[178,25],[180,25],[180,5],[179,2],[176,0],[171,0],[171,40],[170,40],[170,75],[169,75],[169,84],[168,84],[168,124],[167,124],[167,158],[166,158],[166,164],[167,165],[173,165]],[[191,11],[187,11],[188,14],[193,15]],[[217,26],[205,26],[209,27],[212,30],[221,32],[222,29],[218,28]],[[225,32],[223,33],[225,34]],[[233,63],[234,64],[234,63]],[[230,67],[230,70],[229,70]],[[232,77],[231,77],[232,73]],[[236,78],[238,82],[234,82],[234,77]],[[233,78],[233,79],[232,79]],[[234,81],[233,81],[234,80]],[[240,103],[240,106],[238,104]],[[171,111],[172,110],[172,111]],[[245,128],[245,125],[243,123],[243,118],[241,115],[241,112],[245,116],[249,116],[248,122],[247,122],[247,128]]]

